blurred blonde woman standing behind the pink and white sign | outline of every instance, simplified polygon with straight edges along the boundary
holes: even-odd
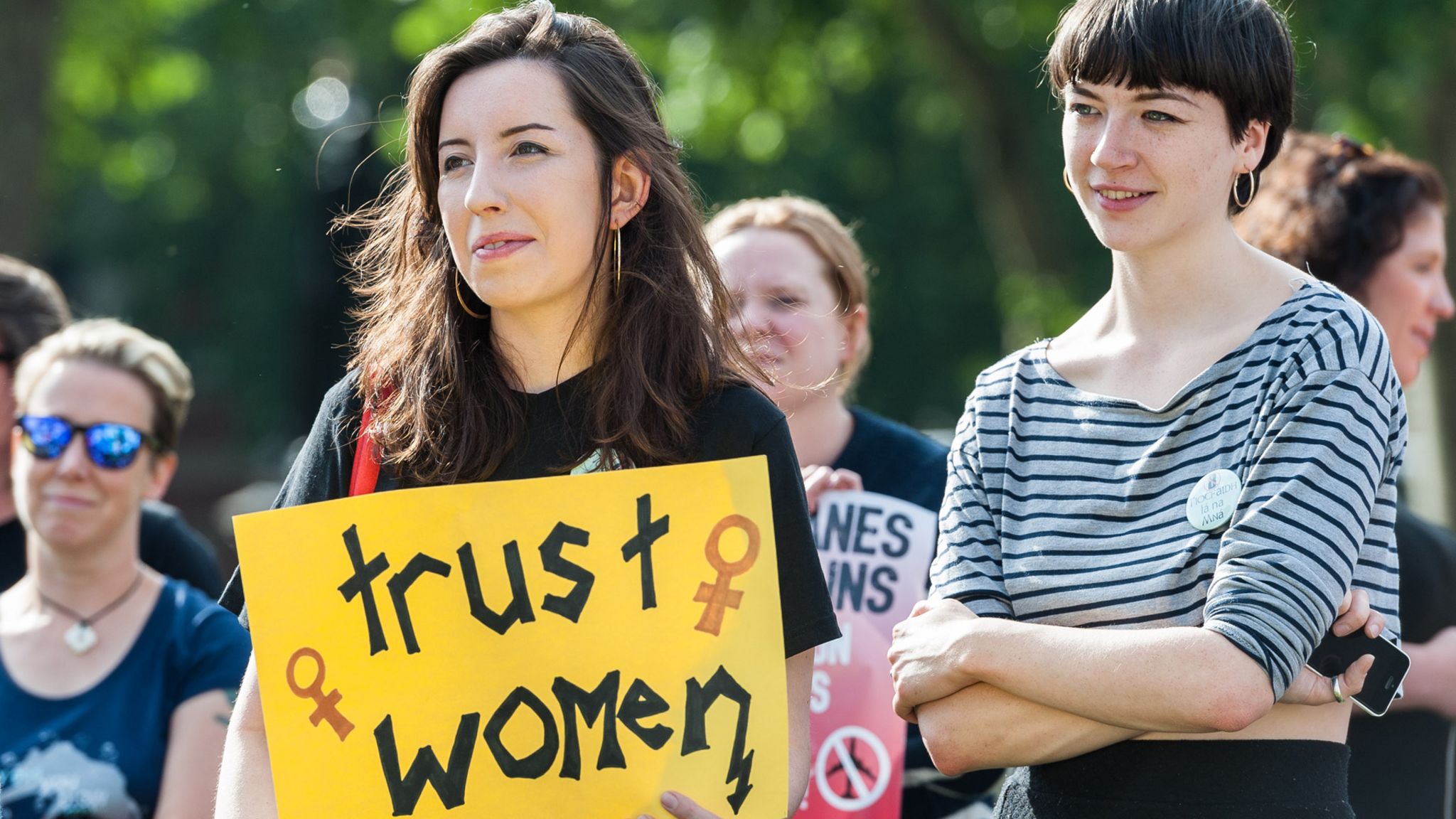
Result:
[[[772,376],[760,388],[789,418],[810,507],[824,491],[863,488],[938,512],[946,449],[849,404],[869,358],[869,265],[849,227],[814,200],[783,195],[722,208],[708,239],[734,294],[734,329]],[[941,775],[910,726],[901,813],[965,810],[997,775]]]

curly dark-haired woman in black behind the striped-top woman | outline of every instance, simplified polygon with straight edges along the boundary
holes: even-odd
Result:
[[[1251,243],[1338,286],[1374,313],[1401,383],[1415,383],[1440,322],[1446,185],[1434,168],[1341,136],[1291,133],[1236,226]],[[1396,506],[1405,697],[1350,724],[1350,802],[1361,818],[1456,816],[1456,535]]]

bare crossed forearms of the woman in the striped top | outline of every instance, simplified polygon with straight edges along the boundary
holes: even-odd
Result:
[[[1363,592],[1337,634],[1385,627]],[[891,647],[895,708],[919,721],[946,774],[1079,756],[1144,732],[1242,730],[1273,707],[1268,676],[1200,628],[1075,630],[976,618],[961,603],[919,603]],[[1341,678],[1356,694],[1363,657]],[[1322,705],[1328,681],[1305,669],[1281,702]],[[971,730],[968,730],[971,729]]]

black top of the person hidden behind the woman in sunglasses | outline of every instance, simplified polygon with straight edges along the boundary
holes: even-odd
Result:
[[[157,501],[141,504],[141,563],[175,577],[208,597],[223,590],[217,552],[176,507]],[[19,517],[0,523],[0,592],[25,576],[25,528]]]

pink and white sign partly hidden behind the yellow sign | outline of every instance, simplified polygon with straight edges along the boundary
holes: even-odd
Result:
[[[828,493],[814,539],[843,637],[814,651],[810,788],[796,816],[900,819],[906,724],[890,702],[890,631],[925,597],[936,517],[875,493]]]

